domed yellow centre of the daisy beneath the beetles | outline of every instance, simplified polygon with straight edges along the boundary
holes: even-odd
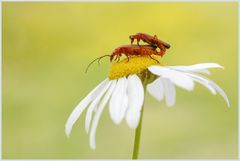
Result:
[[[125,58],[118,63],[112,63],[108,77],[113,80],[131,74],[141,74],[151,65],[160,65],[157,60],[155,56],[152,58],[150,56],[133,56],[129,57],[129,61]]]

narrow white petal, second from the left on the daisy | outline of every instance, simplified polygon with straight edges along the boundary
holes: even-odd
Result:
[[[90,128],[90,124],[91,124],[91,120],[92,120],[92,113],[93,113],[94,109],[97,107],[98,102],[101,100],[104,93],[108,90],[111,83],[112,83],[112,81],[109,81],[104,86],[104,88],[99,92],[97,97],[92,101],[92,103],[88,107],[87,114],[86,114],[86,119],[85,119],[85,130],[86,130],[87,133],[88,133],[89,128]]]

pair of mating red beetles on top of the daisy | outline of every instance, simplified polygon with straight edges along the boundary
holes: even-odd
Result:
[[[99,62],[100,59],[102,59],[103,57],[106,57],[106,56],[110,57],[111,62],[113,61],[114,58],[115,58],[114,60],[119,61],[122,54],[124,54],[127,57],[128,61],[129,61],[129,56],[149,55],[151,57],[151,55],[158,55],[158,56],[162,57],[165,54],[166,49],[170,48],[170,45],[168,43],[159,40],[156,35],[151,36],[151,35],[148,35],[145,33],[137,33],[135,35],[130,35],[129,38],[131,40],[131,45],[120,46],[120,47],[116,48],[112,52],[111,55],[103,55],[103,56],[93,60],[88,65],[86,72],[87,72],[89,66],[93,62],[95,62],[96,60],[98,60],[98,62]],[[137,45],[132,45],[135,39],[137,40]],[[149,45],[139,45],[139,42],[141,40]],[[160,51],[157,51],[157,48],[159,48]],[[154,58],[152,58],[152,59],[154,59]],[[154,60],[156,60],[156,59],[154,59]]]

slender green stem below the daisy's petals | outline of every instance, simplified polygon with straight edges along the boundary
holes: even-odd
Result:
[[[140,144],[140,138],[141,138],[141,129],[142,129],[142,118],[143,118],[143,106],[141,110],[141,116],[139,125],[135,131],[135,140],[134,140],[134,147],[133,147],[133,155],[132,159],[138,159],[138,152],[139,152],[139,144]]]

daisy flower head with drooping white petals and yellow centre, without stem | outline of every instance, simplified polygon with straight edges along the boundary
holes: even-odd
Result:
[[[216,63],[162,66],[148,56],[136,56],[131,57],[129,61],[124,59],[113,63],[108,78],[95,87],[72,111],[65,125],[66,135],[69,137],[74,123],[87,109],[85,131],[90,133],[90,147],[95,149],[96,129],[108,103],[109,114],[115,124],[125,120],[130,128],[138,128],[141,124],[146,90],[158,101],[165,99],[167,106],[173,106],[176,101],[176,87],[192,91],[196,82],[214,95],[219,93],[229,107],[224,91],[203,76],[210,74],[210,68],[223,69]]]

